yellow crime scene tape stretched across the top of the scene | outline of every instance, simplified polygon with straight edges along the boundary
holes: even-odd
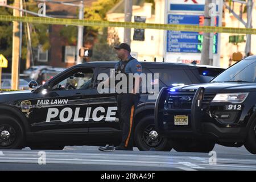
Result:
[[[43,24],[63,24],[72,26],[98,26],[98,27],[123,27],[123,28],[149,28],[157,30],[173,30],[173,31],[191,31],[191,32],[218,32],[229,34],[256,34],[255,28],[233,28],[233,27],[210,27],[195,26],[184,24],[158,24],[158,23],[138,23],[138,22],[108,22],[94,20],[79,20],[67,18],[43,18],[32,16],[7,16],[0,15],[0,21],[5,22],[27,22],[27,23],[43,23]]]

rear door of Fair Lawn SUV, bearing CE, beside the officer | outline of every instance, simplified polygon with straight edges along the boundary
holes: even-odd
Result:
[[[98,67],[97,76],[105,73],[110,76],[110,67]],[[121,130],[119,126],[119,118],[117,111],[116,94],[113,88],[109,89],[108,93],[99,93],[97,86],[100,81],[96,80],[89,105],[92,107],[93,114],[91,115],[88,123],[89,135],[95,142],[109,142],[117,140],[119,142]]]

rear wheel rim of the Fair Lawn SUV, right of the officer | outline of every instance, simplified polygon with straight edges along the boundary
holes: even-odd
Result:
[[[148,125],[142,134],[142,140],[148,147],[157,147],[162,142],[162,137],[156,137],[157,132],[155,131],[154,125]]]

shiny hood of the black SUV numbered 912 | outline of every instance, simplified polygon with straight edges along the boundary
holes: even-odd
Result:
[[[197,90],[205,88],[206,93],[228,93],[228,92],[249,92],[256,91],[256,83],[245,82],[209,82],[206,84],[176,86],[172,89]]]

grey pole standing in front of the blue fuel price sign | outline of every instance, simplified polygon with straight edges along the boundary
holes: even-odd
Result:
[[[209,16],[209,3],[212,0],[205,0],[204,5],[204,26],[210,26],[210,16]],[[210,44],[210,33],[204,32],[203,34],[203,48],[201,51],[201,64],[212,65],[209,60],[209,44]]]

